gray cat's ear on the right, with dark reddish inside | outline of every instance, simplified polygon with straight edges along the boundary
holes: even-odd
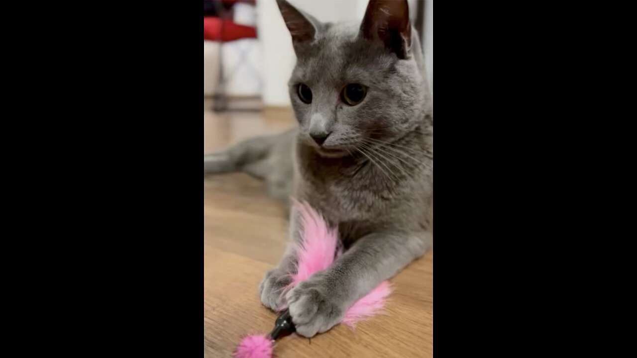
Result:
[[[412,24],[407,0],[370,0],[361,24],[361,35],[383,41],[399,59],[409,57]]]

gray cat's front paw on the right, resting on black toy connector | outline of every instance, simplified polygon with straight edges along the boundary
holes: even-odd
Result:
[[[292,322],[296,333],[311,338],[325,333],[343,320],[344,311],[329,294],[329,285],[320,275],[299,283],[287,293]]]

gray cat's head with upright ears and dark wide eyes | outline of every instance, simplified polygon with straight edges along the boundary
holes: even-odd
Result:
[[[424,62],[406,0],[371,0],[354,24],[323,24],[277,3],[297,55],[289,89],[301,143],[339,157],[422,122]]]

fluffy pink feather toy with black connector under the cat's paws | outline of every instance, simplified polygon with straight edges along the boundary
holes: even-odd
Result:
[[[296,272],[290,273],[292,283],[282,295],[299,282],[329,268],[342,249],[338,247],[338,230],[329,227],[325,219],[309,204],[296,202],[294,210],[298,211],[303,223],[301,244],[296,247],[298,263]],[[385,299],[391,293],[389,282],[385,281],[376,286],[369,294],[350,307],[343,317],[343,324],[354,327],[356,322],[376,315],[385,306]],[[294,323],[289,311],[282,307],[283,313],[276,319],[275,328],[266,335],[252,335],[243,338],[234,352],[235,358],[271,358],[274,344],[278,338],[294,333]]]

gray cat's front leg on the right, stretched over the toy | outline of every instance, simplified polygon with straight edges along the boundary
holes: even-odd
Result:
[[[313,337],[334,327],[356,301],[422,256],[430,241],[429,232],[373,233],[356,241],[329,269],[288,292],[296,333]]]

